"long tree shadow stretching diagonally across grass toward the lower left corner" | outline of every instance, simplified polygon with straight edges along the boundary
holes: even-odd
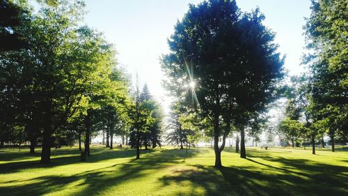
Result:
[[[125,153],[125,152],[122,152]],[[190,151],[187,156],[195,156],[198,151]],[[82,190],[73,195],[97,195],[110,187],[118,186],[121,182],[133,181],[148,175],[147,171],[162,169],[175,163],[180,163],[186,155],[177,149],[160,149],[142,154],[140,160],[132,159],[127,163],[92,169],[71,176],[48,175],[25,181],[16,181],[17,185],[0,186],[1,195],[44,195],[66,188],[70,183],[83,186]],[[9,183],[9,182],[6,182]],[[117,195],[117,194],[116,194]]]

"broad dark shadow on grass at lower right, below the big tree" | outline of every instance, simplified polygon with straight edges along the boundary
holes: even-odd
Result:
[[[174,172],[161,179],[163,186],[190,181],[205,195],[347,195],[348,167],[325,165],[310,160],[271,158],[287,167],[274,167],[257,160],[249,161],[261,168],[203,167]],[[263,157],[262,157],[263,158]],[[260,166],[258,166],[260,167]],[[177,193],[185,195],[185,193]],[[191,193],[191,195],[199,195]]]

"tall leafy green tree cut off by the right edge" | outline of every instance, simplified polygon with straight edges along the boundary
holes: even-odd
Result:
[[[312,109],[317,121],[327,122],[332,151],[335,135],[347,135],[347,1],[312,1],[304,26],[310,54],[304,63],[312,74]],[[326,120],[325,120],[326,119]]]

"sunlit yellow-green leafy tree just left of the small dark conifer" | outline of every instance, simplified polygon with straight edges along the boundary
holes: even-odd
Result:
[[[96,46],[102,49],[98,61],[101,72],[93,79],[93,85],[86,91],[86,97],[90,100],[84,118],[88,156],[91,133],[102,130],[106,123],[106,133],[109,133],[111,138],[109,147],[113,149],[116,126],[120,126],[127,118],[127,84],[122,78],[123,73],[117,67],[114,56],[116,52],[112,45],[105,43],[104,40],[100,41],[103,45],[96,44]]]

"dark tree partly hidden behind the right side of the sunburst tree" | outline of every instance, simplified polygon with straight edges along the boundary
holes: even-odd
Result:
[[[284,57],[276,52],[275,34],[262,24],[264,15],[256,8],[246,14],[239,22],[242,46],[237,54],[237,76],[231,86],[237,103],[237,125],[241,126],[241,158],[246,157],[244,128],[248,121],[258,113],[265,112],[269,103],[278,97],[277,85],[283,79]],[[244,29],[248,29],[245,31]],[[231,80],[230,80],[231,81]],[[232,85],[235,84],[235,85]]]

